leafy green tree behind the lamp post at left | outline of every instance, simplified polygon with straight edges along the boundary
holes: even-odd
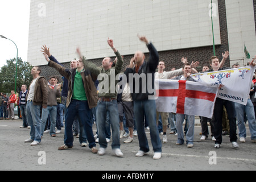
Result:
[[[16,71],[16,59],[6,60],[7,65],[3,65],[0,72],[0,91],[3,93],[9,93],[15,88],[15,71]],[[27,86],[33,80],[31,76],[32,66],[28,62],[23,62],[18,57],[17,63],[17,78],[16,78],[16,92],[20,92],[20,88],[23,84]]]

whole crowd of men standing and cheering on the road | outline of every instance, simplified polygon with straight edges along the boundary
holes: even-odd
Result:
[[[57,78],[54,76],[46,80],[46,78],[40,76],[42,72],[40,67],[32,68],[31,75],[34,79],[28,89],[26,85],[23,85],[22,91],[19,94],[23,127],[31,126],[30,138],[25,140],[25,142],[30,142],[31,146],[36,146],[40,144],[44,133],[49,133],[51,137],[55,137],[56,133],[61,132],[63,115],[65,115],[64,144],[58,150],[72,148],[73,135],[79,133],[81,146],[87,146],[88,142],[93,154],[105,155],[106,147],[108,147],[110,142],[110,135],[112,135],[113,154],[123,157],[123,153],[120,150],[120,138],[127,137],[124,143],[130,143],[133,142],[133,136],[135,135],[138,136],[139,140],[139,151],[135,156],[142,157],[150,151],[145,133],[146,127],[150,130],[150,138],[154,150],[153,159],[160,159],[162,156],[162,143],[168,142],[166,136],[168,126],[171,128],[170,134],[177,135],[176,144],[181,145],[185,143],[183,132],[184,120],[186,121],[184,129],[186,144],[189,148],[193,147],[195,115],[156,111],[155,100],[149,99],[150,96],[154,96],[154,93],[150,92],[148,84],[151,84],[151,88],[154,88],[155,79],[193,81],[190,75],[197,72],[195,67],[199,63],[192,62],[192,64],[188,64],[187,59],[183,58],[181,59],[184,63],[183,68],[166,72],[164,71],[164,62],[159,61],[159,55],[154,45],[148,42],[145,36],[139,36],[139,40],[146,44],[150,52],[149,60],[145,60],[143,52],[135,52],[134,57],[130,60],[130,64],[127,65],[122,74],[119,73],[122,71],[123,57],[118,52],[118,49],[114,47],[112,39],[108,39],[108,44],[113,49],[116,59],[113,60],[111,57],[105,57],[102,60],[101,67],[86,60],[82,56],[80,49],[77,48],[79,59],[72,60],[70,68],[65,68],[51,55],[49,48],[43,46],[41,51],[48,61],[48,66],[55,68],[63,76],[63,82],[57,84]],[[228,51],[223,53],[221,62],[216,56],[210,57],[210,66],[204,65],[202,72],[228,69],[222,68],[228,56]],[[250,62],[250,65],[251,67],[255,66],[254,60]],[[135,84],[135,81],[131,82],[129,80],[135,80],[135,77],[130,77],[130,75],[140,76],[142,74],[146,76],[146,82],[139,80]],[[112,76],[119,79],[115,79],[113,82]],[[123,84],[120,85],[120,82]],[[118,89],[113,89],[113,85],[114,88],[116,85],[119,85],[117,86]],[[247,116],[251,142],[255,143],[255,89],[254,84],[252,84],[251,97],[249,96],[246,106],[217,98],[213,118],[200,117],[202,126],[201,140],[208,138],[207,122],[210,122],[214,147],[220,148],[223,134],[222,115],[224,115],[228,118],[229,126],[227,130],[230,142],[234,148],[239,147],[237,143],[237,125],[240,142],[245,142],[244,118]],[[104,92],[104,90],[111,90],[111,92]],[[11,98],[13,94],[10,96]],[[3,104],[5,102],[5,96],[3,96]],[[9,103],[10,111],[14,104],[13,102]],[[13,111],[10,111],[10,113],[9,118],[12,118]],[[93,134],[92,130],[93,121],[96,121],[96,135]],[[161,133],[161,131],[159,132],[159,122],[162,123],[162,140],[159,134]],[[48,127],[46,127],[46,123],[48,123]],[[74,125],[80,132],[75,132],[73,129]],[[55,131],[55,127],[57,127],[57,131]],[[112,132],[110,132],[110,127]],[[96,142],[100,145],[98,149]]]

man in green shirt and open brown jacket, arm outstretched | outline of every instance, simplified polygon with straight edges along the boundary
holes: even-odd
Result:
[[[97,88],[94,85],[92,74],[84,69],[82,59],[77,60],[76,69],[64,68],[61,65],[49,60],[53,56],[49,56],[49,49],[44,46],[43,53],[46,60],[49,62],[49,67],[55,68],[60,75],[68,80],[68,97],[67,97],[67,111],[65,114],[65,137],[64,145],[58,150],[65,150],[73,147],[73,133],[72,125],[77,115],[86,131],[86,138],[89,142],[89,148],[93,154],[97,154],[95,139],[93,137],[92,122],[90,121],[90,109],[97,105],[98,96]]]

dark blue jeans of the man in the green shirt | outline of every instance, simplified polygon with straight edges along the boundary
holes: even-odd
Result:
[[[90,121],[90,109],[87,101],[79,101],[79,100],[71,100],[69,104],[66,114],[65,114],[65,136],[64,143],[67,146],[73,146],[73,131],[72,125],[73,121],[77,115],[82,125],[84,126],[84,130],[86,131],[86,138],[89,142],[89,148],[95,147],[95,139],[93,137],[92,130],[92,122]]]

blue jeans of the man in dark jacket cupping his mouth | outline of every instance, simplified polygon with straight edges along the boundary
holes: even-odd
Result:
[[[139,150],[148,152],[150,150],[144,130],[144,116],[150,127],[150,138],[155,152],[162,152],[162,143],[156,126],[155,100],[134,101],[134,118],[138,132]]]

